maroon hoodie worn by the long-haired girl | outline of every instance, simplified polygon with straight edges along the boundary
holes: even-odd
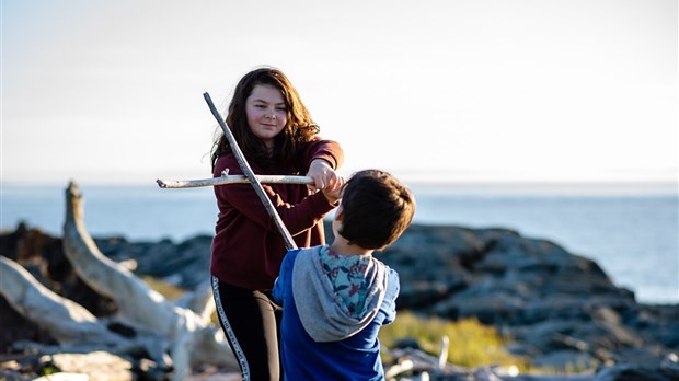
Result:
[[[324,159],[336,170],[344,153],[338,143],[317,137],[300,155],[300,168],[309,169],[314,159]],[[261,175],[290,174],[280,172],[285,171],[281,168],[250,166]],[[226,169],[230,175],[243,174],[231,153],[219,157],[212,175],[219,177]],[[299,247],[325,243],[322,219],[336,205],[330,204],[322,192],[310,194],[306,185],[297,184],[262,186]],[[211,275],[231,286],[272,289],[287,249],[262,200],[251,184],[218,185],[215,196],[219,216],[211,246]]]

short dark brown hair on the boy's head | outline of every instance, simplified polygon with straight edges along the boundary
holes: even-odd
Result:
[[[348,243],[381,250],[411,224],[415,198],[391,174],[380,170],[356,172],[342,196],[342,228]]]

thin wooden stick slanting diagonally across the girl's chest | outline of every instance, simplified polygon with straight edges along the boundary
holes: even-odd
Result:
[[[210,112],[212,112],[212,115],[217,119],[217,123],[219,123],[219,126],[225,132],[225,137],[229,141],[229,146],[231,147],[233,157],[238,161],[238,165],[243,171],[243,174],[245,175],[245,177],[248,177],[248,180],[250,181],[250,184],[252,184],[252,187],[255,189],[255,193],[257,194],[257,196],[260,196],[260,200],[262,200],[262,204],[264,204],[264,208],[266,208],[266,211],[268,211],[268,215],[274,220],[276,228],[278,228],[280,235],[283,235],[283,240],[285,241],[286,247],[288,250],[297,249],[297,244],[295,244],[295,240],[292,240],[292,235],[290,235],[290,232],[288,231],[288,229],[286,229],[285,224],[283,223],[283,220],[280,219],[280,216],[278,216],[278,211],[276,211],[276,208],[274,207],[274,204],[266,195],[266,192],[264,192],[262,184],[260,184],[260,182],[257,181],[257,177],[255,176],[254,172],[250,168],[250,164],[248,164],[248,161],[245,160],[245,155],[241,151],[240,147],[238,147],[238,142],[235,141],[233,134],[231,134],[231,130],[227,126],[225,119],[221,117],[221,115],[219,115],[219,112],[215,107],[215,104],[212,103],[212,99],[210,97],[210,94],[204,93],[203,97],[205,97],[207,105],[210,107]]]

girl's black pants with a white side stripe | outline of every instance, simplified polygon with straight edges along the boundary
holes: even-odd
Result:
[[[227,285],[212,277],[217,315],[245,381],[278,381],[283,377],[278,343],[283,309],[269,291]]]

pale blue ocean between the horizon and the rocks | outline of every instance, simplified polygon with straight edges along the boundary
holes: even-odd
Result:
[[[161,189],[154,183],[84,186],[84,222],[93,236],[181,242],[214,232],[211,188]],[[504,187],[413,185],[415,223],[502,227],[545,239],[596,261],[615,285],[641,302],[679,303],[679,196],[676,192],[573,192]],[[2,230],[20,221],[61,235],[60,186],[1,189]]]

